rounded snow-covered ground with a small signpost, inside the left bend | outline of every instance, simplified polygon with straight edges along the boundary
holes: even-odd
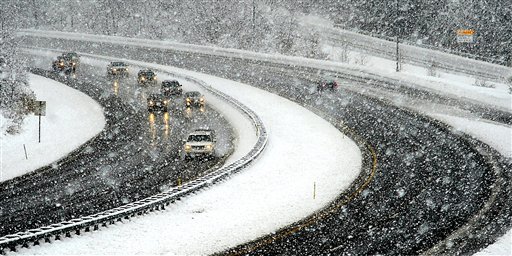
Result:
[[[26,118],[20,134],[9,135],[2,128],[0,181],[61,159],[105,127],[102,107],[84,93],[37,75],[29,75],[29,83],[37,100],[46,101],[41,143],[37,116]],[[3,126],[6,120],[0,118]]]

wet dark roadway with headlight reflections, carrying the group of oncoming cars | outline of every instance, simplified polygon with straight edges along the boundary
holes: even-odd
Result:
[[[48,62],[49,63],[49,62]],[[182,138],[210,126],[232,138],[227,121],[210,109],[185,109],[177,97],[169,113],[149,114],[134,77],[109,80],[104,68],[83,65],[76,76],[32,72],[81,90],[105,109],[107,125],[95,138],[56,164],[0,184],[0,236],[69,220],[136,201],[193,179],[220,165],[181,160]],[[227,148],[232,150],[232,139]],[[230,152],[230,150],[228,150]]]

